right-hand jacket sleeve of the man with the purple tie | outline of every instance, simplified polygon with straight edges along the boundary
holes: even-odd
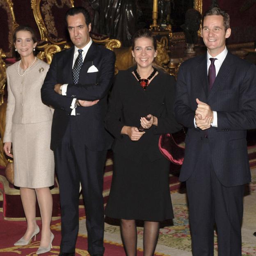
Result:
[[[217,111],[217,130],[249,130],[256,128],[256,66],[251,64],[240,85],[239,110]]]

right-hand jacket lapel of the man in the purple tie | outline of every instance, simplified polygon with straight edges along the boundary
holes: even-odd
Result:
[[[232,65],[233,65],[232,55],[231,53],[228,52],[226,55],[226,58],[224,59],[224,62],[222,62],[222,65],[213,83],[213,87],[209,92],[208,101],[222,87],[222,85],[225,84],[225,81],[229,77],[229,73],[232,71]]]

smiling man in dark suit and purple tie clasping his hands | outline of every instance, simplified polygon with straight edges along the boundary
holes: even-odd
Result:
[[[188,128],[180,180],[186,181],[193,256],[241,255],[244,184],[251,181],[247,129],[256,128],[256,67],[225,45],[229,15],[206,12],[207,53],[184,62],[178,73],[174,112]]]

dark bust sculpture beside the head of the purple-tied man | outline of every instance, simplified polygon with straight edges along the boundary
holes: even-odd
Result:
[[[197,43],[197,31],[201,23],[201,14],[195,9],[188,9],[185,14],[185,24],[181,25],[185,33],[185,41],[189,44]]]

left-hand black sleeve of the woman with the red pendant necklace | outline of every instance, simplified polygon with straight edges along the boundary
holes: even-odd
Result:
[[[117,78],[112,89],[109,105],[107,110],[107,115],[105,117],[105,128],[117,139],[120,139],[121,130],[124,123],[121,121],[121,116],[123,113],[123,103],[120,96],[120,88],[122,82],[121,71],[119,71]]]

